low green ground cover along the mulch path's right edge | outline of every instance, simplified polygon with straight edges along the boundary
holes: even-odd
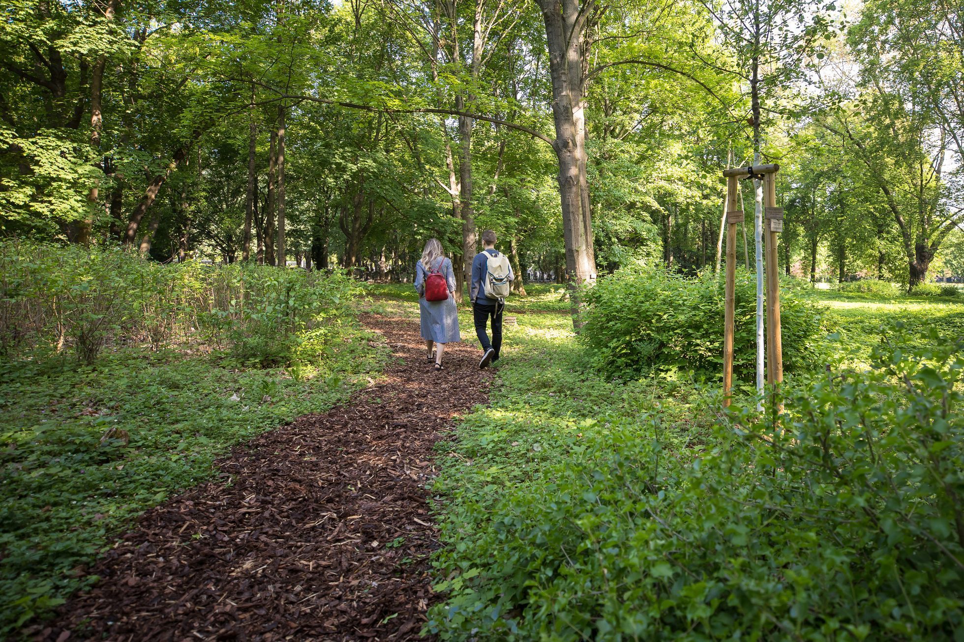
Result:
[[[519,324],[506,328],[489,405],[466,416],[454,447],[446,442],[440,452],[445,465],[433,491],[446,548],[435,565],[446,578],[438,588],[449,591],[450,599],[432,611],[427,629],[446,638],[509,634],[510,629],[494,627],[492,618],[504,620],[502,614],[513,607],[488,610],[489,598],[476,588],[489,597],[503,588],[524,593],[526,571],[519,568],[520,586],[509,587],[513,579],[484,570],[481,560],[504,545],[488,539],[490,529],[499,523],[520,525],[518,510],[545,501],[539,489],[552,484],[559,467],[585,452],[587,444],[602,435],[642,437],[654,408],[663,417],[660,435],[667,447],[700,452],[710,436],[710,420],[692,408],[705,405],[714,392],[667,378],[608,380],[592,371],[568,315],[524,314]],[[566,510],[582,498],[555,500]],[[532,570],[540,562],[526,565]]]

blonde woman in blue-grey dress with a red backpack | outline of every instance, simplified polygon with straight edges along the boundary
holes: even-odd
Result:
[[[445,281],[441,294],[436,292],[435,283],[430,282],[426,287],[429,277],[435,277],[432,281],[440,281],[439,276]],[[442,283],[438,285],[441,286]],[[425,361],[432,361],[434,346],[435,369],[442,370],[442,353],[445,351],[445,344],[459,341],[461,336],[459,335],[459,314],[455,309],[455,299],[452,298],[452,292],[455,291],[455,273],[452,271],[452,261],[442,254],[442,243],[438,239],[430,238],[425,243],[421,260],[415,265],[415,290],[418,292],[421,335],[428,348]],[[442,296],[444,298],[441,300],[429,301]]]

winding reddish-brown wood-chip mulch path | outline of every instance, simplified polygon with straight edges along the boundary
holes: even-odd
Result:
[[[487,401],[492,371],[460,343],[435,372],[417,323],[363,321],[396,357],[384,380],[235,448],[217,480],[147,511],[37,639],[417,639],[434,600],[433,446]]]

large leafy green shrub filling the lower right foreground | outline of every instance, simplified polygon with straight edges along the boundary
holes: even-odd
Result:
[[[734,409],[709,447],[666,441],[658,414],[580,426],[544,474],[460,501],[427,631],[959,638],[964,345],[943,346],[818,378],[785,430]]]

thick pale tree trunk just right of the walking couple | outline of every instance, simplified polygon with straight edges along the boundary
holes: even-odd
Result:
[[[585,27],[594,13],[592,0],[539,0],[552,79],[553,146],[559,161],[559,200],[566,243],[566,273],[571,288],[573,325],[582,327],[579,287],[596,281],[592,215],[586,178],[586,101],[583,95],[588,43]]]

